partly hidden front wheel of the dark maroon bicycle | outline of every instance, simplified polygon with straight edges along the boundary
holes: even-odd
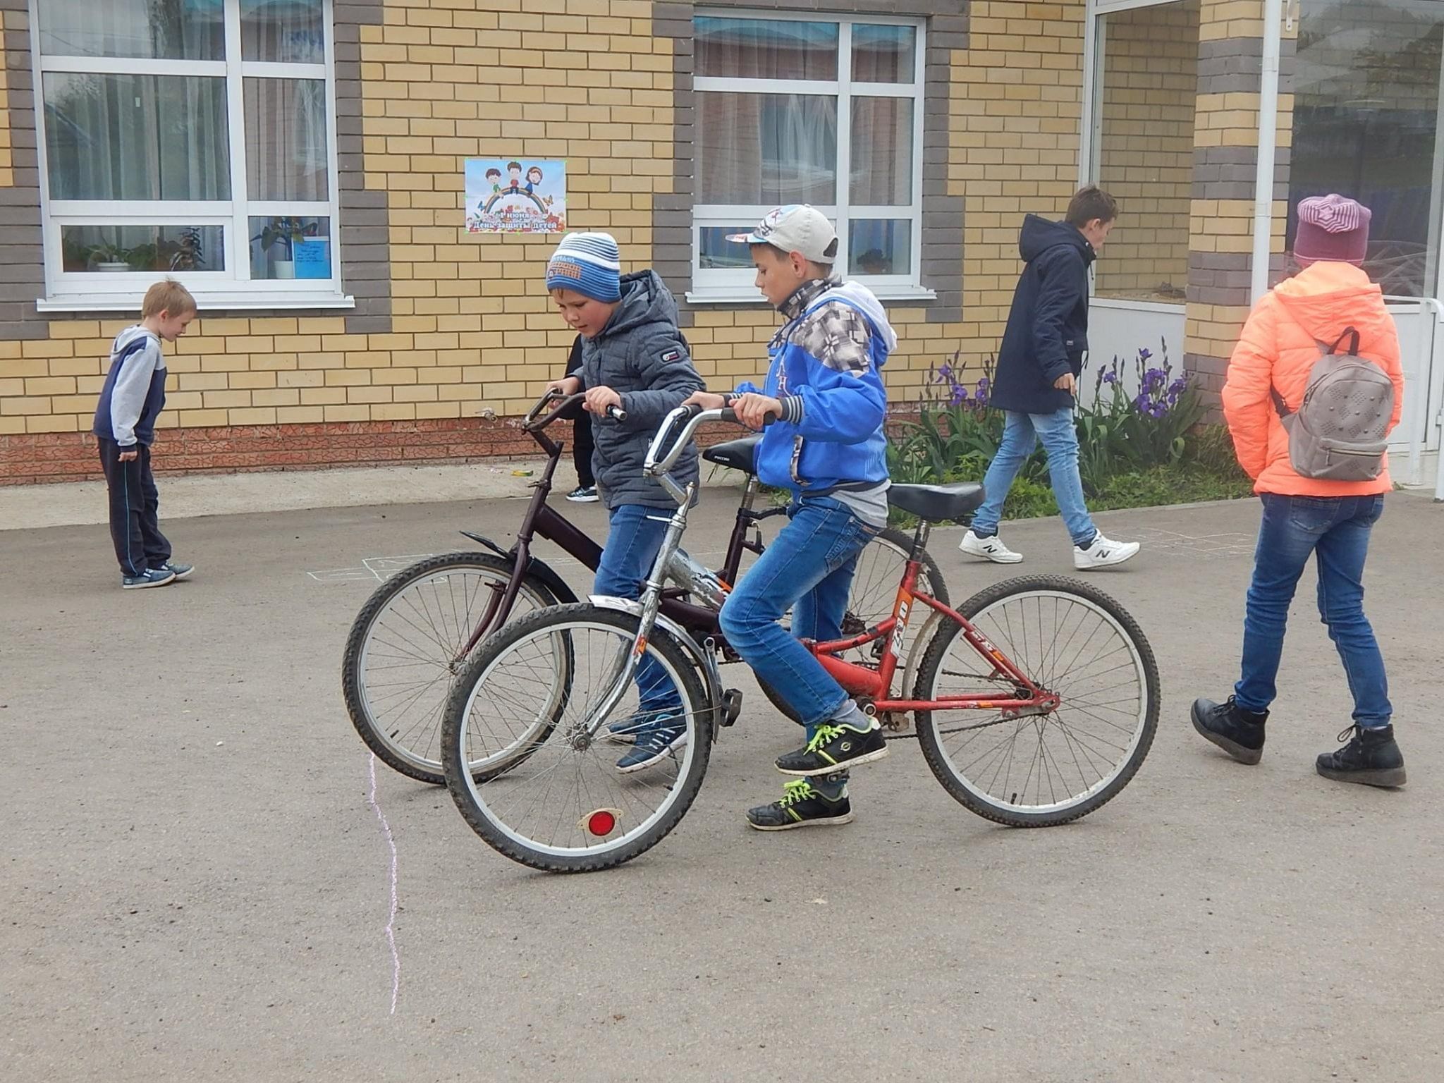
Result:
[[[432,786],[442,773],[442,708],[465,663],[462,647],[498,592],[511,562],[491,553],[426,557],[381,583],[357,614],[341,663],[341,690],[361,739],[394,771]],[[516,615],[556,605],[527,576]]]

